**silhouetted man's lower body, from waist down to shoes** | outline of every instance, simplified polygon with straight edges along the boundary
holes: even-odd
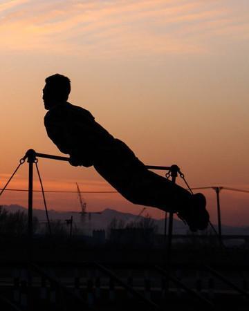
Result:
[[[95,169],[133,204],[176,212],[192,231],[208,226],[209,215],[202,194],[190,194],[183,187],[149,171],[142,162],[132,165],[112,162],[101,167],[95,165]]]

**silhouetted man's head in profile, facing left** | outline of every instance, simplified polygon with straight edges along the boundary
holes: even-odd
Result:
[[[62,104],[68,100],[68,95],[71,91],[70,79],[64,75],[50,75],[45,79],[43,89],[43,97],[45,109],[49,110],[53,106]]]

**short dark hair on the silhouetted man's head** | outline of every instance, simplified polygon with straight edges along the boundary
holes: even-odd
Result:
[[[50,75],[45,79],[46,84],[53,91],[56,98],[59,100],[67,100],[68,95],[71,92],[71,81],[64,75]]]

